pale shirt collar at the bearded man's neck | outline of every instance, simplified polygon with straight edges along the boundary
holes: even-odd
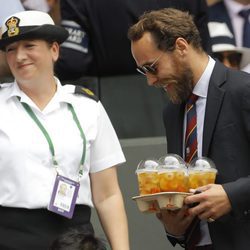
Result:
[[[193,93],[195,95],[204,98],[207,97],[208,85],[215,65],[215,60],[210,56],[208,57],[209,57],[208,64],[204,72],[202,73],[199,81],[197,82],[197,84],[193,89]]]

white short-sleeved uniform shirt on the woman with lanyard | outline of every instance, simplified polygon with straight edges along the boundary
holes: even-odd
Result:
[[[77,180],[83,140],[67,103],[71,103],[87,139],[86,160],[77,204],[93,206],[89,173],[125,161],[112,124],[100,102],[74,94],[74,86],[61,86],[43,111],[25,95],[17,83],[0,89],[0,205],[47,207],[56,170],[42,131],[21,105],[26,102],[49,133],[59,174]]]

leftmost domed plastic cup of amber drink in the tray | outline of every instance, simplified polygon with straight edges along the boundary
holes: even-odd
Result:
[[[160,192],[157,160],[143,160],[138,164],[136,174],[140,195]]]

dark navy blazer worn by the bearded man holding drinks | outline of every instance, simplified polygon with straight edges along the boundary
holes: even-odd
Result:
[[[169,153],[182,155],[184,104],[163,114]],[[250,248],[250,75],[216,62],[207,95],[203,156],[217,169],[232,211],[209,224],[214,250]]]

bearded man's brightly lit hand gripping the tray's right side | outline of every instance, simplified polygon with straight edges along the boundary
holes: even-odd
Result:
[[[201,220],[216,220],[231,211],[230,201],[222,185],[209,184],[197,190],[201,193],[189,195],[184,200],[187,205],[198,203],[197,206],[188,209],[190,215],[197,215]]]

